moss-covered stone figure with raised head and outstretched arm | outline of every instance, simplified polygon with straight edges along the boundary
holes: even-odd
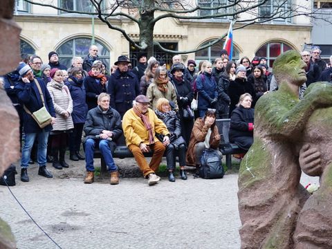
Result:
[[[313,111],[332,105],[332,85],[320,83],[299,101],[305,66],[295,50],[277,57],[279,90],[256,104],[254,144],[239,170],[241,248],[294,248],[298,214],[309,197],[299,184],[297,145]]]

